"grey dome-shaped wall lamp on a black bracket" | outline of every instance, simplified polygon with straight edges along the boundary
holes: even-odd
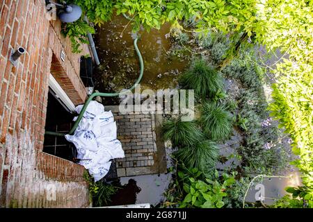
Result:
[[[49,4],[54,4],[54,6],[56,6],[56,9],[58,10],[58,18],[61,20],[61,22],[75,22],[81,17],[82,10],[77,5],[67,5],[65,1],[63,1],[63,3],[56,3],[50,0],[45,1],[47,6]],[[52,8],[50,8],[50,10],[51,9]]]

